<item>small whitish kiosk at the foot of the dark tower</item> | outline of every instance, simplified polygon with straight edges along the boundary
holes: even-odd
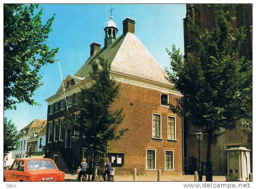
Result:
[[[245,147],[230,147],[227,150],[227,180],[249,181],[250,151]]]

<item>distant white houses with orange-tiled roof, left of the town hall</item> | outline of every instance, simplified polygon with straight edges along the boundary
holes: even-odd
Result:
[[[45,119],[34,119],[31,123],[21,129],[21,138],[18,141],[16,150],[12,151],[12,158],[26,158],[28,155],[28,140],[34,141],[36,145],[36,134],[46,125],[47,120]],[[32,138],[32,139],[31,139]],[[34,145],[34,148],[35,148]],[[35,151],[35,149],[33,149]]]

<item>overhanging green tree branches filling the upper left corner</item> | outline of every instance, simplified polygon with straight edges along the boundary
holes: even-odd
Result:
[[[40,68],[54,63],[58,48],[47,46],[54,17],[42,25],[42,8],[34,15],[37,4],[3,5],[3,106],[16,109],[16,103],[38,104],[31,99],[42,83]]]

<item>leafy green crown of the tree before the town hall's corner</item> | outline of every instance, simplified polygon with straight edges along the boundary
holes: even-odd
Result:
[[[110,78],[111,64],[102,56],[92,62],[98,67],[97,73],[90,73],[92,85],[81,89],[81,97],[76,101],[80,110],[80,118],[74,119],[72,114],[66,114],[65,127],[79,131],[81,145],[90,152],[104,154],[108,143],[118,140],[128,129],[118,130],[123,122],[123,109],[112,110],[111,105],[119,95],[120,83]]]

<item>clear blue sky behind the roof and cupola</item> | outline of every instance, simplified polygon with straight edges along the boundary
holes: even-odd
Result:
[[[48,45],[59,47],[62,76],[73,75],[90,56],[90,44],[97,42],[104,46],[104,27],[109,21],[111,4],[42,4],[42,22],[55,19]],[[122,21],[126,17],[136,20],[135,34],[144,46],[164,68],[169,66],[165,48],[174,43],[183,54],[183,18],[185,4],[114,4],[113,21],[118,27],[118,36],[123,33]],[[17,104],[17,110],[4,111],[4,116],[17,125],[18,130],[34,119],[47,119],[45,99],[54,95],[61,85],[58,63],[45,65],[40,70],[43,85],[33,98],[41,106]]]

